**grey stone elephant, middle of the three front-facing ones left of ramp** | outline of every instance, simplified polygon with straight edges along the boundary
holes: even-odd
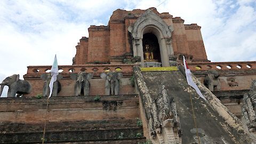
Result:
[[[90,82],[89,79],[93,77],[92,73],[72,73],[70,75],[71,79],[74,79],[76,81],[74,89],[75,89],[75,96],[80,95],[89,95],[90,92]]]

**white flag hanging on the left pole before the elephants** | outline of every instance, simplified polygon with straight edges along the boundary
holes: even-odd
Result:
[[[59,68],[58,68],[58,62],[57,62],[56,54],[55,54],[55,58],[54,58],[54,61],[53,61],[53,64],[52,64],[52,68],[51,68],[51,75],[52,75],[52,79],[51,79],[51,82],[49,84],[49,87],[50,87],[49,98],[52,96],[53,83],[55,81],[57,81],[57,75],[59,75]]]

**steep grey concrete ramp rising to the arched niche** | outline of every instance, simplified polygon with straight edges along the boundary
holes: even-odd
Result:
[[[193,143],[198,142],[196,129],[191,109],[189,97],[189,86],[184,76],[182,66],[178,71],[145,71],[141,72],[139,67],[133,68],[137,89],[140,95],[142,108],[143,130],[148,130],[148,122],[151,114],[148,110],[148,101],[143,98],[148,93],[154,100],[159,99],[159,86],[164,82],[170,99],[173,99],[176,105],[179,126],[182,130],[181,142],[175,143]],[[196,91],[191,88],[191,97],[196,117],[196,124],[201,143],[252,143],[249,136],[244,132],[241,122],[231,112],[222,105],[202,83],[196,79],[194,81],[205,96],[208,102],[204,101],[197,95]],[[146,87],[143,87],[146,84]],[[143,89],[143,90],[141,90]],[[145,118],[145,119],[144,119]],[[146,123],[146,124],[145,124]],[[175,130],[174,130],[175,131]],[[144,132],[146,133],[146,132]],[[147,138],[154,138],[152,135],[146,135]],[[153,142],[154,143],[154,142]],[[158,143],[158,142],[155,142]],[[161,143],[161,142],[159,142]]]

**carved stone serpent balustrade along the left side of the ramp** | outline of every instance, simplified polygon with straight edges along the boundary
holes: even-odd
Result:
[[[157,99],[149,93],[146,82],[138,69],[134,67],[134,75],[145,111],[147,129],[153,143],[181,143],[180,119],[173,98],[170,98],[165,84],[159,85]]]

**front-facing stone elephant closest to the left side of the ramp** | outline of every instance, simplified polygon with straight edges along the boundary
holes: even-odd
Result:
[[[107,73],[101,73],[100,77],[106,79],[105,93],[106,95],[118,95],[119,94],[119,79],[123,77],[122,73],[116,73],[115,71],[108,71]]]

